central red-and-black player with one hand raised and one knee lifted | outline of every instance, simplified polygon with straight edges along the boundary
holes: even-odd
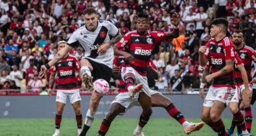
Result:
[[[117,46],[114,47],[115,54],[124,56],[129,62],[129,65],[121,69],[121,76],[122,80],[124,80],[125,88],[128,90],[130,98],[138,99],[139,104],[143,108],[143,113],[141,113],[134,135],[142,135],[141,130],[152,114],[151,95],[146,78],[146,69],[149,65],[154,45],[179,36],[178,25],[180,24],[180,18],[177,13],[172,16],[171,23],[174,25],[173,32],[150,32],[148,31],[150,27],[148,15],[141,13],[136,20],[136,30],[128,32],[117,43]],[[129,51],[120,51],[119,49],[122,47],[128,47]],[[109,122],[106,123],[108,124]]]

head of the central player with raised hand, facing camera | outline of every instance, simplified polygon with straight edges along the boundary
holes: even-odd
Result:
[[[148,14],[139,13],[138,18],[136,20],[136,29],[139,33],[144,33],[149,28],[149,19]]]

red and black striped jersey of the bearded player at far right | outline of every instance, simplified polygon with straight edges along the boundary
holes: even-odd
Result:
[[[251,82],[251,61],[256,62],[256,52],[251,47],[248,47],[247,45],[244,45],[242,49],[236,50],[237,54],[239,55],[239,58],[242,60],[242,63],[244,63],[244,69],[246,69],[246,74],[248,76],[248,82]],[[242,81],[242,75],[237,67],[234,69],[236,74],[235,82],[238,85],[243,85],[244,82]]]

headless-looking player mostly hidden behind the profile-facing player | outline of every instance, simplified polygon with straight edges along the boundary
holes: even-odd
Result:
[[[237,69],[237,71],[233,71],[235,78],[241,78],[242,82],[244,82],[245,85],[245,90],[246,91],[250,91],[249,89],[249,85],[248,85],[248,77],[246,74],[246,69],[244,69],[244,65],[242,63],[242,60],[239,58],[239,55],[237,54],[237,52],[235,52],[235,65],[234,65],[234,69]],[[204,98],[204,85],[206,82],[205,76],[207,76],[207,74],[209,74],[209,65],[206,65],[205,69],[204,69],[204,73],[202,76],[202,83],[200,85],[200,97]],[[240,76],[239,76],[240,75]],[[242,115],[242,113],[239,111],[239,98],[240,98],[240,93],[239,93],[239,87],[236,83],[236,91],[235,91],[235,95],[233,96],[233,98],[231,98],[231,101],[229,102],[229,109],[231,111],[231,113],[233,113],[233,119],[236,120],[235,125],[237,125],[237,128],[240,128],[240,131],[237,135],[249,135],[249,132],[246,130],[246,126],[244,124],[244,116]],[[228,133],[228,131],[227,131]],[[230,133],[229,133],[230,134]]]

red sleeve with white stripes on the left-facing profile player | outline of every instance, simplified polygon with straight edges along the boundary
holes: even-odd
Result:
[[[225,54],[225,60],[234,60],[235,59],[235,47],[233,42],[229,38],[224,38],[223,49]]]

